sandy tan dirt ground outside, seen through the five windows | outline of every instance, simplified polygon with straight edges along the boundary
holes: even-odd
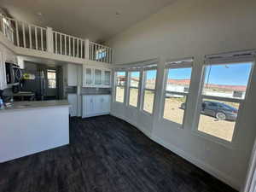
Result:
[[[124,91],[120,90],[117,92],[117,101],[123,101]],[[137,106],[137,90],[131,89],[130,104],[134,107]],[[143,109],[148,113],[152,113],[154,94],[150,91],[146,91],[145,102]],[[183,123],[184,110],[180,108],[181,104],[185,102],[184,98],[166,98],[164,118],[172,120],[178,124]],[[229,103],[230,104],[230,103]],[[235,107],[235,106],[234,106]],[[209,135],[222,138],[226,141],[231,141],[234,133],[236,122],[227,120],[218,120],[213,117],[201,114],[198,125],[198,130],[205,132]]]

